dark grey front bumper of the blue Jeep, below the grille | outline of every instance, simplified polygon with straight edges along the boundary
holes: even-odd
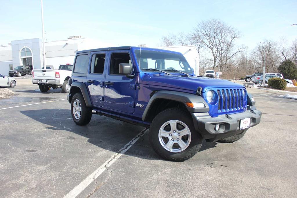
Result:
[[[247,110],[243,113],[219,115],[217,117],[211,117],[207,115],[208,113],[191,114],[195,123],[195,129],[201,134],[203,139],[206,139],[209,142],[216,142],[247,130],[248,128],[239,128],[241,119],[251,118],[249,127],[253,127],[260,123],[262,116],[262,112],[259,110]],[[220,129],[218,131],[214,130],[216,124],[220,124]]]

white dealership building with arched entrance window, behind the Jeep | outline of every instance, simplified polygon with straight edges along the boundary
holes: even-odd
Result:
[[[68,37],[66,40],[45,42],[46,65],[58,69],[60,64],[73,64],[75,53],[79,50],[111,47],[108,44],[80,36]],[[190,66],[199,75],[199,57],[194,46],[159,47],[161,49],[182,53]],[[19,65],[30,64],[33,69],[40,69],[42,60],[42,41],[40,38],[14,40],[9,45],[0,46],[0,74],[8,75],[8,71]]]

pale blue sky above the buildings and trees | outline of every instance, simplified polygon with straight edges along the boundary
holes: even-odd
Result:
[[[169,33],[189,32],[195,24],[219,18],[242,33],[237,44],[252,50],[263,39],[296,38],[297,1],[56,1],[44,0],[48,41],[80,35],[112,46],[155,47]],[[0,45],[42,38],[40,1],[2,1]],[[100,47],[100,46],[98,46]]]

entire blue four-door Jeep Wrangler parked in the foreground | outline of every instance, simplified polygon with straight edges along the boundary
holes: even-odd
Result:
[[[181,53],[168,50],[78,51],[69,85],[76,124],[88,124],[94,110],[145,126],[154,151],[171,161],[194,156],[203,139],[235,142],[261,119],[244,86],[196,77]]]

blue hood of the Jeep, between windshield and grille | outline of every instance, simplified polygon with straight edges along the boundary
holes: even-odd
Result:
[[[182,77],[182,76],[152,76],[148,79],[150,86],[163,86],[168,88],[185,89],[189,91],[197,91],[198,87],[202,87],[202,92],[208,88],[222,87],[244,87],[243,85],[233,83],[228,80],[207,78],[207,77]]]

